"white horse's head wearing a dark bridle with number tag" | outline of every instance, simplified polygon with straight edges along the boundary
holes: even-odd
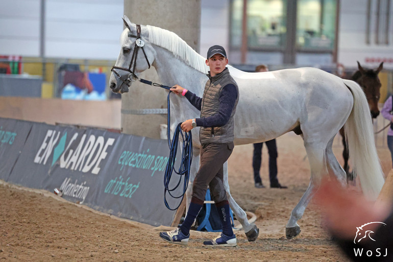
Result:
[[[136,74],[150,68],[155,58],[148,30],[130,22],[127,16],[122,19],[126,29],[121,34],[120,54],[110,77],[110,88],[115,93],[128,92]]]

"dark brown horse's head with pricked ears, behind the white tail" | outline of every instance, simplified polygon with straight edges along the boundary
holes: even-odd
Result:
[[[367,102],[369,102],[371,115],[373,118],[376,118],[379,115],[378,101],[381,89],[381,81],[378,74],[383,68],[383,62],[375,70],[364,69],[359,62],[357,63],[359,70],[353,75],[352,80],[356,81],[363,88]]]

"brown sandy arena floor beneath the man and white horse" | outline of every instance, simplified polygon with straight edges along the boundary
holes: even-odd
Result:
[[[302,232],[285,239],[285,224],[309,182],[303,140],[293,133],[277,139],[281,184],[268,188],[267,152],[263,149],[262,180],[255,188],[252,145],[237,146],[229,160],[231,193],[244,209],[257,215],[256,242],[236,231],[237,247],[206,248],[202,242],[217,233],[191,231],[188,247],[171,245],[152,226],[125,221],[69,203],[53,193],[0,181],[1,261],[348,261],[323,229],[318,207],[311,203],[299,221]],[[334,152],[342,163],[341,144]],[[390,153],[378,148],[385,175]]]

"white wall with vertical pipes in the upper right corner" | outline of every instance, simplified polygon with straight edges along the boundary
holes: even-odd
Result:
[[[393,69],[393,10],[390,8],[389,45],[375,44],[377,1],[372,1],[370,44],[366,43],[367,0],[340,1],[338,62],[357,67],[356,61],[370,68],[385,60],[384,68]],[[374,60],[374,62],[373,62]]]

